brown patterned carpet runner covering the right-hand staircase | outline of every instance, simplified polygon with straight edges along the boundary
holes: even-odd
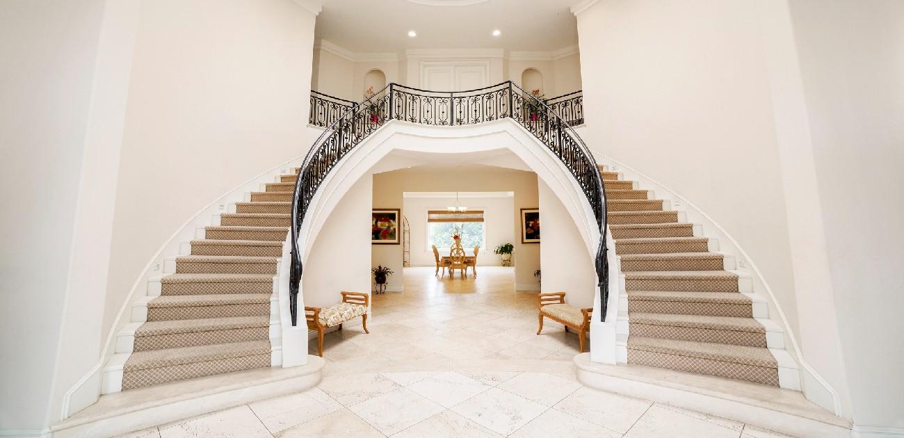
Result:
[[[695,237],[667,202],[600,166],[625,278],[627,362],[778,386],[778,364],[753,300],[726,256]]]

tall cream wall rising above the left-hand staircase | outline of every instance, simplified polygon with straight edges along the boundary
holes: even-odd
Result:
[[[185,219],[305,153],[299,78],[311,74],[313,30],[314,15],[286,0],[142,3],[105,327]]]

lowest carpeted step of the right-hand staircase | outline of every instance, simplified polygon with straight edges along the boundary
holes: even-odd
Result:
[[[758,347],[629,336],[627,361],[778,386],[776,359]]]

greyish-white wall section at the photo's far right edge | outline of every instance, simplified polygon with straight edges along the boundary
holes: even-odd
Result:
[[[788,3],[851,415],[901,434],[904,3]]]

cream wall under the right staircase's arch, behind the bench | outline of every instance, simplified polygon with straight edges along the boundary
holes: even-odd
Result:
[[[587,244],[559,196],[538,180],[540,197],[541,292],[565,292],[567,303],[592,308],[597,274]]]

